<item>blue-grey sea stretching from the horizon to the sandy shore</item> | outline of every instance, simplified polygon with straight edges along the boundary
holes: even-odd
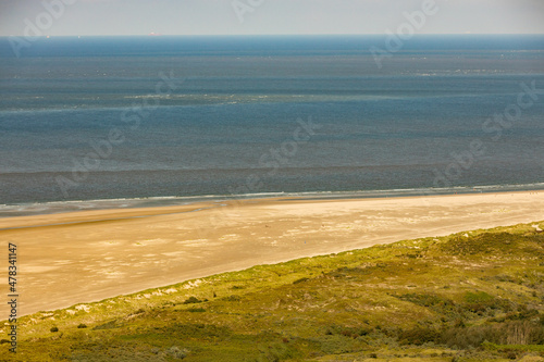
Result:
[[[0,38],[0,204],[541,187],[544,37],[415,36],[381,67],[371,47]]]

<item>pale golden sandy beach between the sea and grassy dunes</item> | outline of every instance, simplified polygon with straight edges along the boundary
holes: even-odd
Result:
[[[544,191],[275,198],[5,217],[0,267],[8,270],[8,244],[15,244],[24,315],[258,264],[542,220]],[[5,283],[0,294],[8,295]]]

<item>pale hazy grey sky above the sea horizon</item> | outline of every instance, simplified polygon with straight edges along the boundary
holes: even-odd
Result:
[[[0,0],[0,35],[384,34],[425,1],[418,34],[544,34],[544,0]]]

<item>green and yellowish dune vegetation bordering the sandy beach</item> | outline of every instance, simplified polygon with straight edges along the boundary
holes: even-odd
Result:
[[[20,319],[16,358],[7,340],[0,355],[540,361],[541,228],[544,222],[405,240],[39,312]]]

